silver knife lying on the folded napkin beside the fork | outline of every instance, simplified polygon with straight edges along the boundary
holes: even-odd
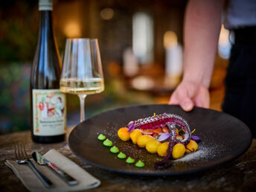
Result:
[[[63,170],[61,170],[59,167],[57,167],[55,164],[51,163],[47,159],[45,159],[43,156],[40,155],[38,152],[32,153],[33,160],[36,161],[36,163],[40,165],[48,165],[48,167],[51,167],[56,173],[59,174],[59,176],[68,183],[68,185],[77,185],[77,180],[74,179],[72,176],[68,175],[68,173],[65,173]]]

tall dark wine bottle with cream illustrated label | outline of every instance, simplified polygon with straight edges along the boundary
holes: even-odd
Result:
[[[52,25],[52,1],[39,0],[39,37],[31,68],[31,135],[36,143],[65,139],[65,95],[60,92],[60,54]]]

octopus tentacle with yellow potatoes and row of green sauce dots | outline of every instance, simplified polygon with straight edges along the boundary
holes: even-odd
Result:
[[[195,129],[194,129],[195,130]],[[194,132],[193,130],[193,132]],[[118,129],[118,138],[122,141],[131,140],[138,147],[145,147],[149,153],[157,153],[164,157],[154,164],[156,169],[163,169],[170,166],[171,159],[180,159],[185,153],[192,153],[197,150],[200,141],[197,136],[191,135],[191,129],[187,121],[174,114],[154,114],[152,117],[130,121],[127,127]],[[128,157],[119,151],[118,147],[112,146],[112,141],[100,134],[98,140],[103,141],[105,147],[111,147],[111,153],[119,153],[119,159],[126,159],[127,164],[135,163],[135,159]],[[136,167],[144,167],[144,162],[138,160]]]

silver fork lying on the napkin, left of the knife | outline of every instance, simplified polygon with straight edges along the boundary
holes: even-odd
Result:
[[[53,183],[45,176],[43,175],[33,164],[31,159],[28,158],[27,152],[25,150],[24,144],[14,144],[14,151],[16,156],[16,162],[18,164],[29,164],[31,169],[34,173],[36,173],[36,176],[41,179],[42,183],[45,185],[45,187],[49,188],[53,185]]]

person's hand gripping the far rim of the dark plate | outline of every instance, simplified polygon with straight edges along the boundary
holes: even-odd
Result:
[[[182,81],[171,95],[169,104],[179,105],[186,112],[191,111],[193,106],[209,108],[210,94],[201,83]]]

